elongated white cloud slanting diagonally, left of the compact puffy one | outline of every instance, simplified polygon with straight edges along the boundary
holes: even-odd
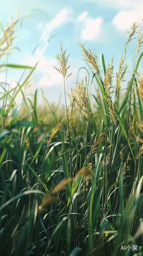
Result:
[[[67,18],[67,10],[61,10],[56,17],[52,20],[52,22],[46,25],[46,28],[52,31],[54,28],[58,28]]]

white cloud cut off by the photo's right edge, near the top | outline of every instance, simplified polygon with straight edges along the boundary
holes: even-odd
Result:
[[[138,11],[121,11],[112,20],[117,29],[126,31],[133,24],[134,20],[142,15],[141,10]]]

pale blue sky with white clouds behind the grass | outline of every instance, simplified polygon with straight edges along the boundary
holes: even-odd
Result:
[[[126,31],[130,29],[135,19],[138,20],[141,17],[143,10],[142,0],[55,0],[53,2],[49,0],[13,0],[12,2],[5,0],[0,11],[0,22],[4,29],[7,22],[10,23],[11,17],[16,20],[19,5],[19,21],[15,26],[17,31],[14,34],[17,38],[13,40],[13,46],[20,51],[13,49],[8,63],[34,66],[40,59],[33,73],[35,85],[33,88],[42,88],[45,97],[51,102],[57,102],[61,92],[61,100],[64,101],[63,78],[54,69],[54,66],[60,68],[56,57],[60,52],[59,41],[61,41],[63,50],[67,49],[66,54],[70,54],[67,64],[70,68],[67,75],[70,73],[72,75],[66,80],[66,92],[70,94],[70,88],[76,88],[79,69],[87,68],[85,61],[82,60],[82,49],[77,40],[81,45],[84,40],[85,49],[90,49],[93,54],[97,55],[99,66],[101,66],[101,53],[104,54],[106,68],[114,56],[113,66],[114,74],[116,74],[125,47]],[[139,21],[140,25],[141,19],[142,17]],[[2,37],[2,30],[0,34]],[[137,38],[137,35],[135,37]],[[47,41],[49,41],[48,44]],[[38,42],[39,45],[31,56]],[[130,65],[130,72],[133,68],[132,59],[135,57],[136,44],[137,39],[133,39],[130,47],[127,48],[125,62],[128,66]],[[85,79],[85,72],[85,69],[80,69],[79,81]],[[8,69],[7,82],[11,84],[11,87],[16,86],[21,74],[22,70]],[[27,74],[28,71],[22,79]],[[89,79],[91,79],[91,72]],[[2,72],[0,82],[3,83],[5,80],[6,73]],[[39,89],[38,92],[40,95],[41,90]],[[17,102],[20,102],[20,95],[18,97]],[[40,96],[38,97],[41,101]]]

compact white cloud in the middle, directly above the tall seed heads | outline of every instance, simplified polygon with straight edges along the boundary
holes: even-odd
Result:
[[[82,37],[85,40],[94,40],[101,34],[101,24],[103,23],[102,18],[85,20],[85,29],[82,30]]]

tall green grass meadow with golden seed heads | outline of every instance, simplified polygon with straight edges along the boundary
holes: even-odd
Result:
[[[0,57],[13,48],[16,22],[5,30],[1,25]],[[135,36],[135,66],[123,90],[127,46]],[[1,68],[28,69],[29,75],[15,88],[1,85],[0,255],[142,255],[142,27],[134,22],[125,37],[117,71],[113,58],[106,67],[102,54],[101,72],[92,52],[77,42],[98,93],[88,95],[88,73],[75,78],[70,105],[70,56],[60,42],[55,68],[63,77],[64,110],[43,95],[39,111],[38,91],[26,95],[37,63],[1,62]]]

